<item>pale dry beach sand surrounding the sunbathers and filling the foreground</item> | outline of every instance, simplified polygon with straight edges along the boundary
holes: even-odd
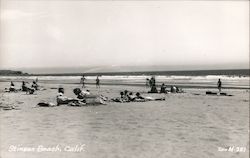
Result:
[[[0,83],[0,89],[9,83]],[[206,96],[205,89],[187,93],[148,95],[143,87],[95,86],[93,93],[118,97],[120,90],[165,96],[165,101],[108,103],[87,107],[39,107],[40,101],[55,102],[58,84],[36,95],[0,93],[0,104],[20,110],[0,110],[1,158],[247,158],[249,156],[249,91],[225,90],[234,96]],[[65,95],[73,97],[76,84],[64,84]],[[194,95],[197,93],[200,95]],[[46,148],[55,152],[10,152],[10,146]],[[83,145],[81,152],[67,146]],[[218,151],[234,147],[234,152]],[[235,152],[245,147],[245,152]],[[20,149],[20,148],[19,148]]]

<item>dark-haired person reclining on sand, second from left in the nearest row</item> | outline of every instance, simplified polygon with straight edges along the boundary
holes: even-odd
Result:
[[[91,94],[89,91],[81,90],[80,88],[73,89],[74,94],[77,96],[77,99],[81,99],[86,104],[103,104],[105,105],[107,98],[100,95]]]

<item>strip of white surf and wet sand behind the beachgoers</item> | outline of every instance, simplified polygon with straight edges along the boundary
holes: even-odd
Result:
[[[22,81],[32,82],[39,79],[42,84],[74,84],[81,85],[81,76],[0,76],[0,83],[16,82],[20,85]],[[104,86],[135,86],[146,87],[146,78],[150,76],[101,76],[100,85]],[[156,86],[159,88],[162,83],[170,86],[178,86],[180,88],[197,88],[197,89],[213,89],[217,88],[217,80],[222,78],[222,88],[224,89],[250,89],[250,78],[242,77],[225,77],[225,76],[156,76]],[[96,76],[87,76],[85,84],[95,85]]]

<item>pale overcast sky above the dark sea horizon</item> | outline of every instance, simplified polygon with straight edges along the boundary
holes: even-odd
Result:
[[[0,16],[0,68],[249,62],[249,1],[1,0]]]

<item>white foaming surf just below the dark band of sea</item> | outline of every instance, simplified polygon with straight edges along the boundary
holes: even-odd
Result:
[[[36,78],[39,81],[80,81],[81,76],[0,76],[0,80],[35,80]],[[96,76],[86,76],[87,81],[94,81]],[[99,77],[100,80],[106,81],[122,81],[122,82],[145,82],[147,78],[151,78],[151,76],[125,76],[125,75],[117,75],[117,76],[107,76],[103,75]],[[231,82],[231,83],[239,83],[249,82],[249,76],[247,77],[239,77],[239,76],[225,76],[225,75],[207,75],[207,76],[165,76],[159,75],[155,76],[156,81],[158,82],[187,82],[187,83],[208,83],[208,82],[216,82],[219,78],[224,82]]]

